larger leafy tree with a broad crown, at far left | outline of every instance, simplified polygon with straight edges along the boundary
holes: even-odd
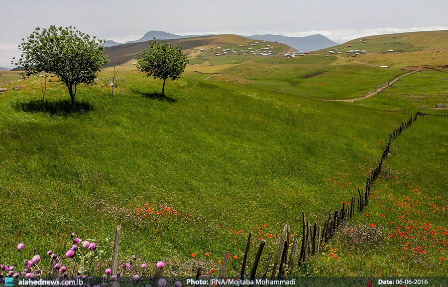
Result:
[[[77,86],[91,84],[109,60],[103,53],[101,43],[76,27],[35,28],[26,39],[22,38],[20,58],[15,65],[25,69],[25,75],[45,71],[58,76],[67,86],[75,108]]]

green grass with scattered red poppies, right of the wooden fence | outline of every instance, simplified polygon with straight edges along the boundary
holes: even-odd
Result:
[[[420,117],[393,142],[366,215],[340,230],[308,272],[349,277],[444,274],[448,257],[446,125],[442,117]],[[352,238],[344,239],[344,231]],[[372,236],[361,236],[364,233]]]

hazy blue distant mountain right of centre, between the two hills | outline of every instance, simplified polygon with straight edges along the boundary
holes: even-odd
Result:
[[[266,40],[271,42],[277,41],[285,43],[293,47],[294,49],[302,51],[316,51],[338,45],[336,42],[330,40],[329,38],[321,34],[310,35],[306,37],[286,37],[283,35],[272,35],[272,34],[252,35],[244,37],[248,37],[250,39],[255,40]]]

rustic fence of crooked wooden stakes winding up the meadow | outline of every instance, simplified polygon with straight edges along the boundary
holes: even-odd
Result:
[[[389,141],[386,144],[386,147],[381,155],[378,165],[369,172],[365,182],[365,188],[361,191],[358,188],[358,193],[355,199],[355,196],[351,196],[349,199],[349,203],[343,203],[340,209],[332,211],[331,209],[328,212],[328,215],[325,217],[325,221],[323,224],[314,223],[312,224],[307,220],[305,216],[305,212],[302,211],[302,236],[301,242],[299,242],[299,238],[297,234],[291,236],[291,229],[288,225],[283,227],[283,232],[280,237],[279,246],[277,252],[270,252],[267,256],[266,262],[263,268],[263,273],[261,278],[264,280],[269,277],[270,280],[278,280],[284,278],[286,276],[291,276],[296,267],[302,266],[310,257],[318,255],[320,253],[321,247],[323,244],[327,243],[336,233],[336,231],[349,219],[353,217],[356,211],[362,212],[363,209],[368,205],[370,188],[375,180],[378,178],[383,160],[388,156],[390,144],[396,139],[399,135],[401,135],[406,129],[411,127],[411,125],[417,121],[419,116],[423,116],[423,113],[416,113],[413,117],[411,117],[407,122],[403,122],[400,126],[393,130],[389,135]],[[355,202],[356,200],[356,202]],[[356,205],[355,205],[356,204]],[[120,227],[116,228],[115,233],[115,242],[113,246],[113,255],[112,255],[112,275],[116,274],[116,266],[117,266],[117,254],[118,254],[118,242],[120,237]],[[292,239],[292,242],[291,242]],[[246,276],[246,267],[247,267],[247,258],[252,240],[252,232],[250,231],[247,238],[246,249],[243,257],[243,262],[241,265],[240,279],[243,280]],[[266,245],[266,241],[263,239],[260,242],[257,253],[255,255],[254,262],[250,269],[249,279],[253,279],[256,275],[260,274],[258,272],[258,268],[261,261],[261,256],[264,251],[264,247]],[[300,245],[300,250],[299,250]],[[224,278],[226,276],[226,268],[227,268],[227,259],[228,252],[224,254],[223,260],[221,261],[221,269],[219,277]],[[274,260],[272,265],[272,270],[270,276],[268,272],[271,267],[271,261]],[[261,266],[263,267],[263,266]],[[155,270],[154,276],[155,279],[161,278],[162,270]],[[200,278],[203,275],[203,270],[201,267],[198,268],[196,272],[196,278]],[[155,282],[156,284],[156,282]]]

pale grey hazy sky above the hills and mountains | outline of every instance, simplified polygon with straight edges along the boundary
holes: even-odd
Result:
[[[0,0],[0,66],[35,27],[75,26],[120,43],[150,30],[175,34],[322,34],[353,38],[447,30],[448,0]]]

